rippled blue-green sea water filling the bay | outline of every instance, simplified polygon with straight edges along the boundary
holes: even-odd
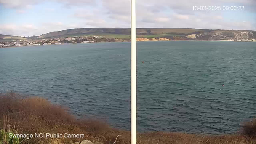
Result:
[[[256,115],[255,42],[138,42],[137,60],[139,131],[227,134]],[[0,49],[7,90],[129,130],[130,43]]]

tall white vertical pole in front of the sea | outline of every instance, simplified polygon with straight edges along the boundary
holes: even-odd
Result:
[[[131,0],[131,144],[137,144],[136,0]]]

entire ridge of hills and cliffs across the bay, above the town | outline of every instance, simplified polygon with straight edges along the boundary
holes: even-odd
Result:
[[[168,38],[170,40],[234,40],[256,41],[256,31],[251,30],[204,30],[193,28],[137,28],[137,38]],[[130,40],[130,28],[76,28],[50,32],[40,36],[18,37],[0,35],[4,40],[42,40],[73,36],[95,35],[102,38]]]

